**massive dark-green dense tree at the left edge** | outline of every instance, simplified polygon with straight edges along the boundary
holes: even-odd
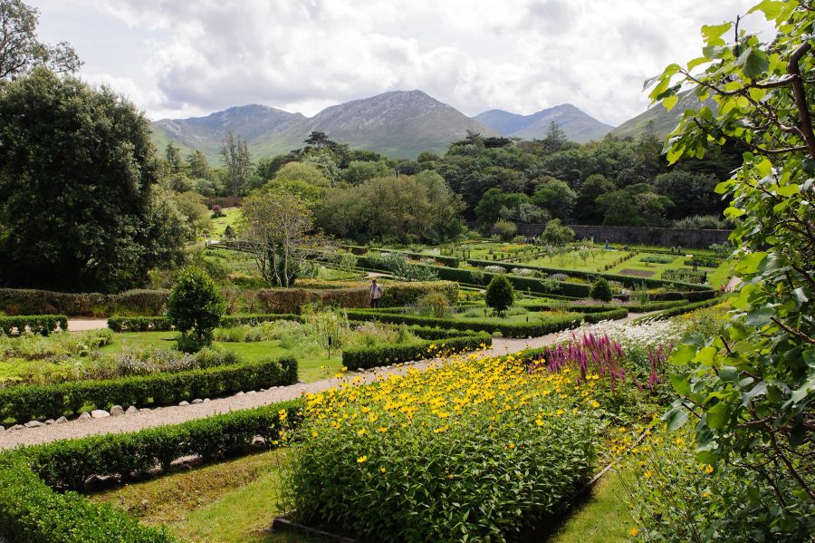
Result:
[[[114,291],[180,262],[149,121],[109,89],[43,67],[0,85],[0,281]]]

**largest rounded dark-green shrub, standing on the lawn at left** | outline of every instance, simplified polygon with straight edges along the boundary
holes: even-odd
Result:
[[[181,333],[178,349],[196,352],[212,343],[212,331],[224,315],[225,304],[213,280],[197,267],[187,267],[170,293],[167,316]]]

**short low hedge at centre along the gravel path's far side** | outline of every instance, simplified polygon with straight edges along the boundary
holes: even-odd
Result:
[[[438,349],[429,349],[435,344]],[[412,360],[436,358],[439,354],[475,351],[482,345],[492,345],[489,334],[463,335],[444,339],[427,340],[420,344],[383,345],[380,347],[360,347],[342,351],[342,365],[349,370],[368,369],[382,365],[398,364]]]

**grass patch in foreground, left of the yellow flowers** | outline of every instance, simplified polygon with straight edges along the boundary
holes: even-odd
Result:
[[[166,524],[187,541],[302,543],[313,539],[265,530],[280,514],[286,451],[268,451],[124,485],[91,496],[146,524]]]

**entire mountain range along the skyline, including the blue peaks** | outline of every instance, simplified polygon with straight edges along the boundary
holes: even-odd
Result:
[[[665,113],[664,108],[660,106],[660,109]],[[670,124],[670,118],[667,124]],[[331,140],[347,143],[351,149],[374,150],[391,158],[415,159],[424,150],[444,152],[450,142],[465,138],[467,131],[484,136],[540,139],[552,121],[570,140],[582,143],[599,140],[634,120],[614,129],[568,103],[531,115],[490,110],[470,118],[425,92],[394,91],[334,105],[313,117],[250,104],[206,117],[162,119],[153,121],[152,138],[158,149],[173,143],[184,154],[201,150],[208,160],[216,163],[221,141],[228,131],[246,138],[255,159],[299,149],[310,132],[323,131]],[[637,131],[640,124],[638,121],[626,131]]]

